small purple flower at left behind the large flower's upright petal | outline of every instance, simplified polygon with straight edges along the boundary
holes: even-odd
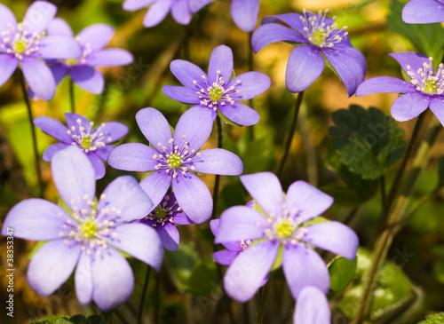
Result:
[[[123,138],[128,133],[128,127],[121,122],[103,122],[93,129],[83,115],[65,113],[67,126],[58,120],[40,116],[34,119],[34,124],[46,134],[56,138],[60,143],[49,146],[44,151],[44,161],[52,161],[54,154],[67,146],[78,146],[88,156],[94,169],[96,179],[105,176],[105,164],[108,154],[115,148],[112,142]]]

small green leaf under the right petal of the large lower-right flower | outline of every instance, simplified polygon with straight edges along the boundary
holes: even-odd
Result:
[[[352,281],[358,265],[357,258],[353,261],[345,257],[335,257],[328,265],[330,273],[330,290],[335,293],[343,291]]]

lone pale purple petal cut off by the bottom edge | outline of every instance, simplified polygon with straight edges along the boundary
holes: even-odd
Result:
[[[329,301],[318,288],[304,288],[297,296],[294,324],[330,324],[331,314]]]

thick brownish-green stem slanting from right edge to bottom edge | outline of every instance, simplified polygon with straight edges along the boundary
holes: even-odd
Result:
[[[362,281],[363,288],[361,299],[358,304],[358,309],[356,312],[356,317],[353,320],[353,324],[361,324],[369,314],[373,291],[376,288],[377,278],[382,265],[384,264],[385,257],[387,257],[388,250],[392,245],[394,235],[398,233],[402,225],[404,225],[402,219],[406,214],[409,196],[416,184],[416,180],[419,177],[421,170],[423,170],[424,166],[428,162],[432,145],[438,137],[438,133],[440,132],[441,128],[442,126],[440,124],[432,127],[427,134],[427,137],[419,147],[412,163],[412,168],[408,171],[408,176],[401,186],[400,195],[396,200],[392,214],[390,214],[390,217],[386,222],[384,231],[377,239],[377,243],[373,249],[369,269],[367,270],[367,273]]]

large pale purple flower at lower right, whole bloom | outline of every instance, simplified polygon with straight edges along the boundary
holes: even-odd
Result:
[[[322,258],[309,247],[327,249],[354,259],[359,241],[348,226],[338,222],[305,225],[329,208],[333,199],[304,181],[289,186],[284,197],[279,179],[270,172],[241,176],[243,186],[261,211],[245,206],[226,209],[220,216],[215,243],[255,240],[226,270],[226,293],[239,302],[249,300],[270,270],[279,266],[296,299],[300,291],[314,286],[329,291],[329,271]]]

